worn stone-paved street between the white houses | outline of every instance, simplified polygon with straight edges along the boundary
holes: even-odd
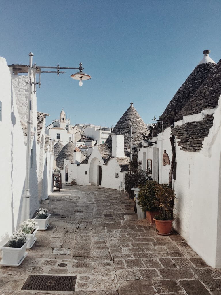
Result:
[[[64,184],[42,207],[50,226],[37,232],[21,266],[0,267],[0,295],[221,294],[221,269],[207,266],[180,235],[159,236],[137,220],[125,194]],[[75,292],[21,291],[29,274],[76,275]]]

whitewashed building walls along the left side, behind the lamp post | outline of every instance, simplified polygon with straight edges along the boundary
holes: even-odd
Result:
[[[28,85],[27,76],[14,76],[4,58],[0,58],[0,89],[2,121],[0,121],[1,206],[0,243],[19,228],[26,171],[27,136],[22,126],[27,124]],[[22,123],[21,123],[21,122]],[[39,209],[40,200],[51,191],[52,153],[45,151],[44,142],[37,136],[37,101],[32,92],[32,138],[30,168],[30,216]],[[45,119],[40,138],[44,139]],[[24,132],[23,132],[24,131]],[[42,137],[43,135],[43,137]],[[4,144],[3,144],[4,143]],[[47,169],[45,161],[47,160]],[[51,162],[51,164],[50,164]],[[47,174],[47,178],[43,175]],[[44,188],[42,189],[42,187]],[[47,189],[45,189],[47,188]]]

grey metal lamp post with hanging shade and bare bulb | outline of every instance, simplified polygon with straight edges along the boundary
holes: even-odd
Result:
[[[25,189],[24,194],[22,195],[22,211],[21,211],[21,222],[30,218],[30,149],[31,149],[31,111],[32,111],[32,84],[34,85],[34,94],[36,93],[36,85],[41,86],[41,74],[42,73],[57,73],[59,76],[60,73],[64,74],[64,71],[60,72],[60,69],[67,70],[79,70],[79,72],[72,74],[71,78],[75,80],[80,80],[79,85],[82,86],[82,80],[88,80],[91,76],[83,73],[82,63],[79,64],[78,68],[67,68],[60,67],[57,64],[57,67],[46,67],[46,66],[37,66],[35,63],[32,65],[33,53],[29,53],[29,70],[28,70],[28,84],[29,84],[29,99],[28,99],[28,120],[27,120],[27,151],[26,151],[26,175],[25,175]],[[57,71],[42,71],[42,69],[57,69]],[[36,82],[36,74],[39,74],[39,81]],[[33,80],[33,81],[32,81]]]

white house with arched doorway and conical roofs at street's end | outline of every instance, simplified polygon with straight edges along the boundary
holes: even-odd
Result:
[[[62,169],[62,179],[70,182],[75,178],[77,184],[103,186],[110,189],[119,189],[124,181],[130,162],[130,133],[132,126],[132,146],[138,149],[147,127],[139,116],[133,103],[119,119],[113,128],[112,137],[104,144],[95,145],[86,150],[76,150],[72,143],[64,147],[57,156],[57,166]],[[84,149],[85,150],[85,149]],[[81,152],[80,152],[81,151]]]

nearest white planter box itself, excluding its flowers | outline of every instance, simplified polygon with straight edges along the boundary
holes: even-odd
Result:
[[[25,252],[29,239],[26,239],[26,242],[21,248],[10,248],[8,242],[1,246],[2,249],[2,260],[0,264],[2,266],[19,266],[24,260],[27,253]]]

